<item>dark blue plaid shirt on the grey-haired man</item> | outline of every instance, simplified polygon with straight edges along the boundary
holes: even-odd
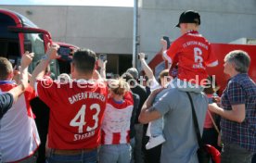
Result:
[[[231,110],[232,106],[245,104],[246,118],[242,123],[228,119],[221,120],[224,143],[235,143],[256,152],[256,86],[248,74],[233,77],[222,95],[222,106]]]

